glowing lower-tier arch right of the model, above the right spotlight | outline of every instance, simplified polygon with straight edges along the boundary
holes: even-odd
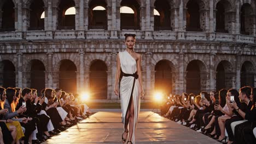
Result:
[[[162,60],[155,65],[155,90],[165,94],[172,93],[171,62]]]

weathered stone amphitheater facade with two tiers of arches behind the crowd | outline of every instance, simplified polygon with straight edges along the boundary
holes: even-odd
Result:
[[[145,100],[256,86],[256,1],[3,0],[0,86],[114,95],[124,34],[142,55]],[[93,8],[101,6],[102,11]],[[120,8],[134,14],[120,14]],[[75,15],[66,16],[69,7]],[[154,9],[160,15],[154,15]],[[40,19],[42,12],[44,19]]]

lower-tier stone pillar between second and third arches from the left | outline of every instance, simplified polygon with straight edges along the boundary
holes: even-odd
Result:
[[[48,82],[48,87],[52,88],[53,87],[53,52],[48,52],[46,53],[48,61],[48,71],[47,71],[47,82]]]

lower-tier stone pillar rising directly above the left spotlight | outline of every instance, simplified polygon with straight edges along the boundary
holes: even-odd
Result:
[[[82,92],[84,90],[84,52],[80,51],[80,65],[79,65],[79,92]]]

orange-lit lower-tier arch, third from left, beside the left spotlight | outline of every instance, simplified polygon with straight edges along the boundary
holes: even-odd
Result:
[[[68,59],[60,64],[59,87],[65,92],[77,92],[77,67]]]

